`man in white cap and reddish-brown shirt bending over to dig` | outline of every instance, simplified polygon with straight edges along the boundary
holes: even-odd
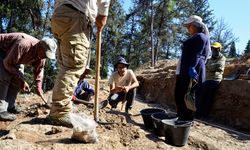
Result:
[[[55,59],[57,44],[51,38],[38,40],[25,33],[0,34],[0,120],[15,120],[21,112],[15,105],[20,90],[30,91],[22,64],[32,65],[37,94],[43,97],[42,81],[46,58]]]

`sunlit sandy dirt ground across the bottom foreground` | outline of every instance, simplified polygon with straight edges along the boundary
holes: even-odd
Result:
[[[107,97],[107,87],[102,86],[100,99]],[[49,93],[46,93],[46,98]],[[137,97],[133,116],[124,111],[111,110],[106,107],[99,111],[97,126],[98,143],[79,143],[71,139],[71,128],[53,126],[46,121],[49,109],[42,105],[37,95],[19,95],[17,104],[24,106],[26,112],[18,115],[12,122],[0,122],[0,149],[86,149],[86,150],[247,150],[250,147],[250,137],[212,127],[195,121],[191,127],[188,143],[183,147],[176,147],[165,142],[165,137],[158,137],[154,130],[144,127],[140,110],[144,108],[160,107],[157,104],[144,103]],[[93,118],[93,109],[78,104],[79,111]]]

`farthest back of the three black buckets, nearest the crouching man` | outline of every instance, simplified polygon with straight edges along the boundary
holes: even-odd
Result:
[[[162,108],[146,108],[140,111],[144,125],[147,129],[153,129],[154,124],[151,115],[154,113],[165,112]]]

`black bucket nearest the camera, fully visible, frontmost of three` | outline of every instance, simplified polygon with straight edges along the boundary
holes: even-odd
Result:
[[[163,119],[165,130],[165,142],[174,146],[184,146],[188,141],[191,121],[176,121],[175,119]]]

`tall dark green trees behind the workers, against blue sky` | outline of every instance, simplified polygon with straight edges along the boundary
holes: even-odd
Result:
[[[108,66],[114,64],[119,55],[125,56],[132,69],[150,62],[152,50],[155,60],[178,57],[181,53],[181,42],[189,36],[186,28],[183,27],[183,22],[190,15],[201,16],[210,32],[216,29],[217,22],[208,0],[132,0],[132,6],[127,12],[123,8],[125,1],[111,0],[108,21],[102,32],[102,78],[106,78],[110,70]],[[37,38],[51,35],[49,18],[54,9],[53,3],[54,0],[2,0],[0,3],[1,32],[26,32]],[[91,41],[91,68],[95,68],[96,61],[95,33],[94,28]],[[226,44],[236,41],[233,37],[233,40],[225,37],[220,39]],[[212,37],[212,40],[216,39],[217,37]],[[46,64],[44,90],[53,87],[57,70],[52,66],[55,65],[56,62]],[[25,69],[25,76],[30,80],[32,70],[27,69]]]

